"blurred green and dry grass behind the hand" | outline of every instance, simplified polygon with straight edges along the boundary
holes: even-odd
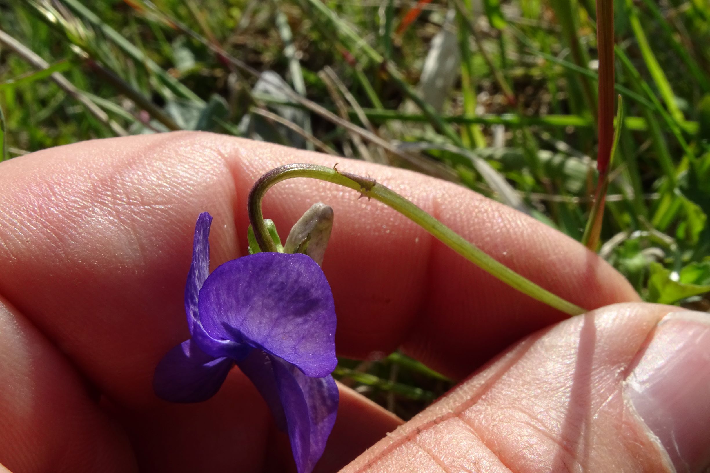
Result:
[[[416,7],[0,0],[0,159],[171,129],[258,136],[454,180],[580,239],[594,2]],[[599,252],[645,300],[709,310],[710,4],[615,7],[627,118]],[[401,354],[343,360],[337,376],[405,418],[451,386]]]

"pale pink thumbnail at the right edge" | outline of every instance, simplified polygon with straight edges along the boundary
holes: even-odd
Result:
[[[710,465],[710,314],[661,320],[626,379],[626,396],[678,473]]]

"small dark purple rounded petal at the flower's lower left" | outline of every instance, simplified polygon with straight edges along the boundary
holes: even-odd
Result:
[[[160,360],[153,375],[153,391],[165,401],[197,403],[219,390],[234,361],[215,358],[185,340]]]

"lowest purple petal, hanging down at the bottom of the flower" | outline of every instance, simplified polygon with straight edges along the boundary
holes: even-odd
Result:
[[[332,376],[311,378],[283,359],[269,358],[298,473],[310,473],[335,423],[338,386]]]

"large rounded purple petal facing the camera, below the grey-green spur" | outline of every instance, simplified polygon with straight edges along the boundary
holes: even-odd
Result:
[[[337,365],[335,308],[320,266],[304,254],[258,253],[209,275],[198,300],[207,334],[261,348],[307,376]]]

